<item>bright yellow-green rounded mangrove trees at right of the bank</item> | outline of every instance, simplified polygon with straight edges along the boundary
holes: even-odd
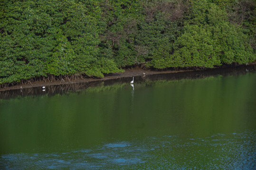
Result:
[[[174,65],[212,68],[222,63],[242,64],[256,59],[248,36],[228,22],[227,13],[207,0],[194,0],[193,19],[175,42]]]

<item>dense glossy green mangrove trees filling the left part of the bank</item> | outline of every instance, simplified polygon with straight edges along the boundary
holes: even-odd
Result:
[[[119,69],[97,48],[101,10],[76,0],[1,2],[0,83],[36,76],[103,73]],[[105,69],[106,70],[105,70]]]

